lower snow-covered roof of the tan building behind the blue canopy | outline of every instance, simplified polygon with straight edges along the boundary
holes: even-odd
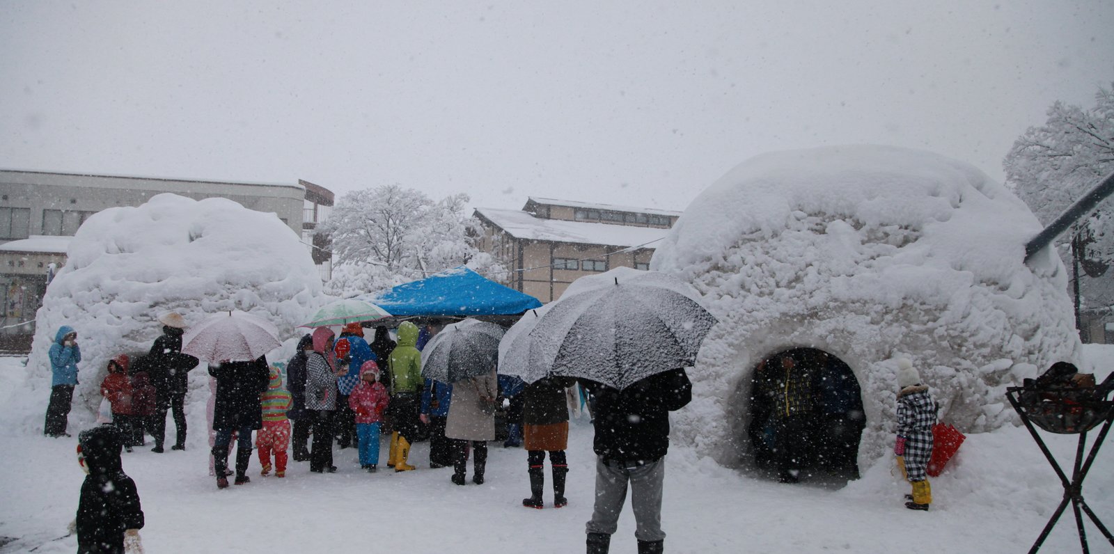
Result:
[[[629,225],[590,224],[543,219],[525,211],[476,208],[476,214],[491,221],[508,235],[529,240],[576,243],[603,246],[639,246],[661,240],[668,229]],[[648,248],[653,248],[649,245]]]

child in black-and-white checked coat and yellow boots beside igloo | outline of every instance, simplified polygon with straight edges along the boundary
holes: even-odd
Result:
[[[928,387],[920,384],[920,374],[906,358],[898,360],[898,436],[893,454],[903,464],[906,478],[912,485],[907,496],[909,510],[928,510],[932,489],[928,484],[928,459],[932,456],[932,426],[936,425],[936,400]]]

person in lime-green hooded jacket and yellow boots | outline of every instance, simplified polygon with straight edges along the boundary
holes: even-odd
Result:
[[[391,372],[391,412],[394,415],[394,433],[391,434],[391,451],[388,467],[395,472],[409,472],[414,466],[407,464],[410,443],[417,437],[418,407],[424,379],[421,376],[421,352],[418,350],[418,326],[410,321],[399,325],[399,344],[388,357]]]

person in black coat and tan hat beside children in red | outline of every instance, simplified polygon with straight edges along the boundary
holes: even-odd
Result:
[[[155,339],[150,353],[143,362],[143,368],[155,385],[155,415],[150,418],[150,436],[155,447],[150,452],[162,453],[166,439],[166,413],[173,409],[174,426],[177,428],[173,451],[186,449],[186,390],[189,388],[189,370],[197,367],[197,358],[182,354],[182,335],[186,321],[177,313],[159,316],[163,335]],[[138,368],[136,369],[139,370]]]

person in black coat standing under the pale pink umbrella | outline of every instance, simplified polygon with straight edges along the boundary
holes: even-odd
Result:
[[[263,405],[260,394],[271,383],[271,368],[263,356],[252,362],[225,362],[209,365],[209,375],[216,377],[216,398],[213,406],[213,431],[216,439],[213,458],[216,461],[216,486],[228,486],[225,476],[228,443],[236,437],[236,484],[250,482],[247,464],[252,459],[252,431],[263,428]]]

